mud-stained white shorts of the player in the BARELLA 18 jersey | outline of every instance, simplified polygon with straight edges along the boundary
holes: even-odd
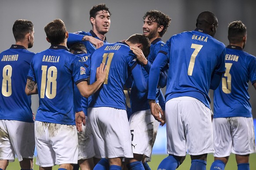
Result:
[[[75,125],[35,121],[37,162],[41,167],[77,164],[78,142]]]

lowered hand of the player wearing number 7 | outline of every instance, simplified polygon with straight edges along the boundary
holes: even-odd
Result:
[[[155,100],[150,100],[149,105],[150,105],[151,114],[154,116],[155,120],[161,122],[161,126],[163,126],[165,124],[165,114],[163,113],[163,110],[155,102]]]

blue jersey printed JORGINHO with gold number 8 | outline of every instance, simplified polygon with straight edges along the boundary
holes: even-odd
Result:
[[[33,122],[31,96],[25,87],[34,54],[20,45],[0,53],[0,119]]]

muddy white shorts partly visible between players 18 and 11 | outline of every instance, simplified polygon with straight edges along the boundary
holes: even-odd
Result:
[[[77,132],[78,136],[78,160],[89,159],[95,156],[93,146],[93,135],[91,131],[91,123],[86,117],[85,126],[82,124],[82,132]]]

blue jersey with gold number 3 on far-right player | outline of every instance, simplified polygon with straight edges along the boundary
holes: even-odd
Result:
[[[226,73],[214,91],[213,117],[252,117],[248,82],[256,82],[256,57],[239,46],[226,50]]]

